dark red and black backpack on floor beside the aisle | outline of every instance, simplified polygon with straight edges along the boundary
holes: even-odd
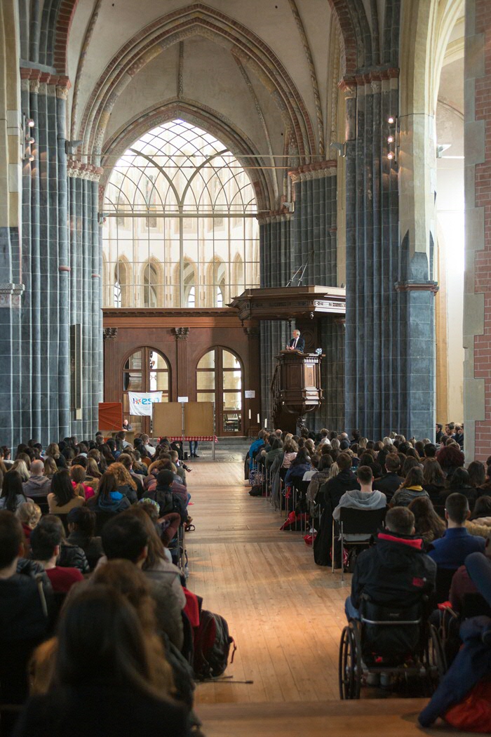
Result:
[[[194,675],[199,680],[221,676],[227,668],[230,645],[232,658],[237,646],[228,632],[227,621],[219,614],[202,609],[199,627],[194,630]]]

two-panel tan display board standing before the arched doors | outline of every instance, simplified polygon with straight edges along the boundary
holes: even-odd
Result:
[[[213,402],[186,402],[184,433],[186,437],[213,436]],[[183,405],[180,402],[155,402],[153,435],[155,437],[183,435]]]

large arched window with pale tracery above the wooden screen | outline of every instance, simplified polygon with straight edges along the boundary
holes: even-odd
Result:
[[[238,263],[240,291],[259,285],[254,187],[205,130],[173,120],[142,136],[117,161],[104,210],[107,273],[125,259],[136,279],[149,264],[143,284],[127,284],[130,304],[123,290],[108,307],[225,307],[239,293]]]

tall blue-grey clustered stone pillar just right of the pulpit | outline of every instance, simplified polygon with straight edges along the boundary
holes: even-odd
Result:
[[[436,284],[431,259],[414,253],[406,234],[400,241],[398,163],[387,158],[396,77],[374,70],[345,84],[346,429],[371,439],[390,430],[431,437],[434,429]],[[425,380],[414,378],[420,366]]]

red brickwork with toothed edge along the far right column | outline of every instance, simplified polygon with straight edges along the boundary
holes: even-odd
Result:
[[[474,376],[484,379],[484,421],[476,422],[476,458],[491,454],[491,3],[476,0],[476,33],[484,34],[485,76],[476,80],[476,120],[484,120],[486,160],[476,164],[476,206],[484,208],[484,249],[475,254],[474,292],[484,293],[484,333],[474,338]],[[464,428],[465,432],[465,428]],[[472,458],[469,458],[471,461]]]

